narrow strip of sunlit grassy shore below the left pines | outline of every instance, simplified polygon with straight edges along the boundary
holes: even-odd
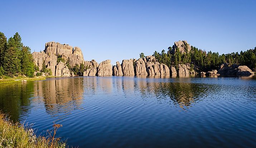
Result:
[[[24,78],[24,77],[17,77],[17,78],[6,78],[6,79],[0,79],[0,84],[6,84],[6,83],[19,83],[24,80],[26,81],[37,81],[37,80],[45,80],[46,78],[44,76],[37,76],[34,78]]]

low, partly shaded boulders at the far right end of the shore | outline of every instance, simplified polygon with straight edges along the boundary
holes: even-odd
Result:
[[[239,66],[237,64],[229,65],[228,63],[223,63],[219,68],[218,74],[254,74],[247,66]]]

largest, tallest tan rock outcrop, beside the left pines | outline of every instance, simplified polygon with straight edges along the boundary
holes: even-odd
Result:
[[[43,64],[51,69],[53,76],[71,76],[67,63],[71,67],[76,64],[84,63],[83,53],[79,47],[72,47],[68,44],[55,42],[45,43],[45,49],[42,52],[32,53],[34,63],[42,70]],[[58,58],[62,59],[57,63]]]

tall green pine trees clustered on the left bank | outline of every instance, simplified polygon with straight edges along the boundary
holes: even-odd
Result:
[[[35,69],[31,49],[23,45],[19,33],[16,32],[7,40],[0,32],[0,78],[33,77]]]

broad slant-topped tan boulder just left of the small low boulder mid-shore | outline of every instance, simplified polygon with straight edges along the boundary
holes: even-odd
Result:
[[[112,75],[112,65],[110,60],[104,60],[98,66],[98,76],[111,76]]]

